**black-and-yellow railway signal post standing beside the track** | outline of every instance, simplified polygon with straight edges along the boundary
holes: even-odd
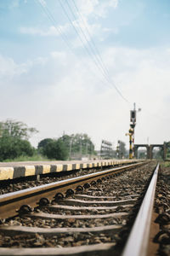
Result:
[[[140,111],[140,109],[139,109]],[[134,157],[134,127],[136,125],[136,104],[134,103],[133,110],[130,111],[130,129],[126,134],[129,136],[129,159]]]

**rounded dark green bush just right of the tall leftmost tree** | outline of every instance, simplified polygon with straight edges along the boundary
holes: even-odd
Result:
[[[69,151],[61,140],[52,140],[44,146],[43,154],[49,159],[67,160]]]

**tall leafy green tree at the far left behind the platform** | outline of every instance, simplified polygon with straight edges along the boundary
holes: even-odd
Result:
[[[0,160],[14,159],[20,155],[31,156],[34,148],[27,141],[35,128],[28,128],[22,122],[16,122],[8,119],[0,122]]]

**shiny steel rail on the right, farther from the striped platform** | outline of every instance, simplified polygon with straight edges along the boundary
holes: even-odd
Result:
[[[158,171],[159,164],[156,166],[153,177],[151,178],[149,188],[144,196],[144,200],[133,224],[133,229],[130,236],[127,239],[127,244],[124,248],[122,256],[147,255]]]

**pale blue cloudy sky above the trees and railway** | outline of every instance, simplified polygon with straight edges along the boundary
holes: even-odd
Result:
[[[135,102],[135,143],[170,141],[169,25],[169,0],[0,0],[0,120],[128,148]]]

